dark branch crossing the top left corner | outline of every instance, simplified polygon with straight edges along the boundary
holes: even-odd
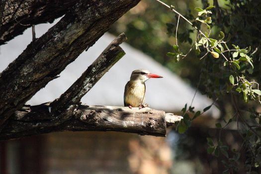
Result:
[[[33,24],[53,22],[54,19],[69,12],[77,1],[1,0],[0,45],[22,34],[25,29]]]

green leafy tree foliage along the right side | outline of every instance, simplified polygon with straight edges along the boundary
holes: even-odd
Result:
[[[154,3],[156,1],[150,1],[152,6]],[[178,66],[170,65],[179,62],[180,67],[192,69],[191,74],[183,77],[213,98],[213,104],[217,103],[222,113],[216,123],[219,136],[207,139],[206,151],[216,157],[223,156],[224,174],[239,171],[240,158],[245,161],[245,172],[255,174],[261,168],[261,52],[258,48],[261,45],[261,2],[214,0],[210,4],[208,0],[201,0],[200,6],[185,12],[171,3],[165,6],[175,16],[169,14],[173,19],[166,22],[166,28],[174,45],[165,52],[169,57],[165,59],[168,62],[165,65],[176,68]],[[159,12],[156,16],[160,15]],[[193,74],[195,71],[198,73]],[[192,120],[210,107],[197,111],[192,105],[185,105],[182,109],[184,119],[177,131],[184,133]],[[189,117],[189,114],[193,116]],[[222,139],[221,132],[233,125],[242,139],[239,148],[228,146]],[[244,157],[241,156],[243,151],[246,152]]]

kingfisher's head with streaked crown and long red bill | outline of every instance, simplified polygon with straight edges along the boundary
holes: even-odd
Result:
[[[146,82],[150,78],[163,78],[156,74],[151,74],[148,70],[138,69],[131,73],[131,81],[140,80],[142,83]]]

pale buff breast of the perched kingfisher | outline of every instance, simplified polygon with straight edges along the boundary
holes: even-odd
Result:
[[[145,84],[144,83],[128,83],[125,88],[125,103],[132,107],[139,107],[145,99]]]

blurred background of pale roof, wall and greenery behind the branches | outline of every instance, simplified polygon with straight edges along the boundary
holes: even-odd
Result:
[[[240,0],[234,0],[233,3],[238,1]],[[212,0],[165,2],[174,5],[188,19],[196,16],[196,11],[193,10],[195,7],[203,8],[207,3],[213,5]],[[230,9],[226,5],[230,1],[218,0],[218,3],[221,7]],[[198,84],[206,61],[200,61],[193,51],[178,63],[166,56],[176,42],[176,19],[171,10],[156,0],[142,0],[115,22],[93,47],[70,64],[60,78],[41,89],[27,104],[41,104],[59,97],[115,36],[125,32],[128,40],[121,47],[126,55],[101,78],[82,102],[88,105],[123,106],[124,86],[131,72],[144,68],[164,77],[146,83],[146,102],[150,107],[181,114],[181,109],[187,103],[202,111],[213,103],[207,97],[211,93],[205,86]],[[40,37],[58,20],[52,24],[37,25],[36,37]],[[225,22],[229,19],[224,17],[222,20]],[[217,29],[213,29],[213,35],[216,34],[215,30]],[[229,32],[228,28],[226,30]],[[188,52],[195,36],[196,32],[191,26],[180,20],[177,38],[182,52]],[[31,29],[28,29],[23,35],[1,46],[0,71],[30,42]],[[259,43],[257,41],[256,44]],[[211,62],[207,65],[209,64]],[[225,170],[222,164],[224,158],[215,158],[207,153],[206,138],[214,137],[214,141],[217,141],[215,137],[220,137],[215,123],[227,116],[229,107],[224,98],[218,107],[211,107],[195,119],[184,134],[178,134],[173,127],[169,128],[166,138],[118,132],[60,132],[1,142],[0,174],[221,174]],[[235,129],[230,127],[223,130],[221,139],[237,149],[242,140]],[[245,153],[243,149],[241,158],[237,161],[238,174],[245,174]]]

